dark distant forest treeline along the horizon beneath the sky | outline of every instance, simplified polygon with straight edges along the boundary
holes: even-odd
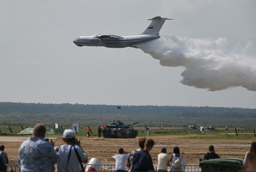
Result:
[[[191,106],[134,106],[118,105],[118,113],[122,115],[168,116],[190,118],[256,118],[256,109],[224,108],[224,107],[191,107]],[[0,102],[0,114],[116,114],[117,105],[90,104],[42,104]]]

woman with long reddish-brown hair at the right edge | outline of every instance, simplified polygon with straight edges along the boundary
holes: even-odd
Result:
[[[247,171],[256,171],[256,141],[252,142],[250,150],[245,154],[243,165]]]

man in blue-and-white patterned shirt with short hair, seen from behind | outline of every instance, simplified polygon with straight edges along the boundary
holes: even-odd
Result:
[[[19,148],[21,171],[52,171],[53,163],[59,162],[59,155],[53,149],[54,141],[45,139],[44,124],[35,125],[32,137]]]

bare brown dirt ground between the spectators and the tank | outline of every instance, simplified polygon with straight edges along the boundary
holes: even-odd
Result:
[[[191,135],[190,135],[191,136]],[[150,152],[153,163],[157,163],[157,155],[162,147],[167,148],[167,153],[171,154],[174,146],[180,148],[184,160],[187,164],[199,164],[199,158],[208,151],[210,144],[214,145],[215,152],[222,158],[244,158],[246,151],[249,150],[252,140],[206,140],[206,139],[181,139],[184,136],[154,136],[155,146]],[[186,137],[186,136],[185,136]],[[27,137],[1,137],[0,144],[5,146],[11,164],[18,161],[18,149]],[[62,139],[56,138],[55,145],[61,145]],[[138,148],[138,137],[136,139],[98,139],[98,138],[81,138],[81,146],[90,158],[98,158],[103,164],[114,164],[111,160],[118,148],[122,147],[125,151],[130,152]]]

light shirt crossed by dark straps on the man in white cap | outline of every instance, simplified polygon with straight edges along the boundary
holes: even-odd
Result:
[[[62,145],[59,147],[60,162],[56,165],[56,171],[65,171],[66,170],[70,147],[71,147],[70,144]],[[75,148],[76,148],[82,162],[85,161],[87,159],[87,155],[85,153],[83,153],[82,149],[79,146],[75,145]],[[67,171],[80,171],[79,165],[80,165],[80,162],[77,158],[75,149],[74,149],[74,147],[72,147]]]

